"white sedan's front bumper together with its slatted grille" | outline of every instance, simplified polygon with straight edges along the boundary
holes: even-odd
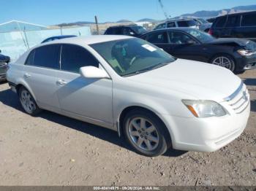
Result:
[[[222,117],[176,117],[163,115],[174,149],[214,152],[236,139],[246,128],[250,113],[249,93],[241,83],[238,90],[225,98]]]

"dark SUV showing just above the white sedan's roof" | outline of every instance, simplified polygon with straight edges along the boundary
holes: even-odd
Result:
[[[142,34],[146,34],[148,31],[146,28],[137,25],[129,26],[110,26],[105,31],[105,34],[114,34],[114,35],[128,35],[138,37]]]

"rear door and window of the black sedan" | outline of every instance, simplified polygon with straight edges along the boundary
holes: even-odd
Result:
[[[148,34],[146,41],[155,44],[157,47],[162,48],[165,52],[170,54],[171,48],[168,42],[167,32],[166,31],[156,31],[151,34]]]

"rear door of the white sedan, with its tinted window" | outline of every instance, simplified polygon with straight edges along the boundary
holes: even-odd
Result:
[[[59,44],[32,50],[26,60],[23,78],[34,93],[37,104],[50,111],[59,110],[56,71],[59,70]]]

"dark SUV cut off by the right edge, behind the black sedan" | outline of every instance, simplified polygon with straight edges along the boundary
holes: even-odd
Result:
[[[217,17],[209,34],[217,38],[235,37],[256,41],[256,11]]]

